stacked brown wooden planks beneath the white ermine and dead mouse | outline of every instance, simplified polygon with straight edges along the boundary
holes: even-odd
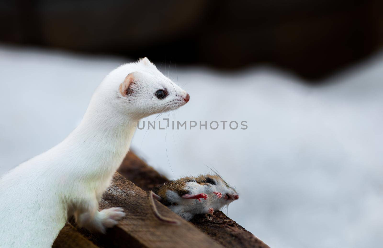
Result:
[[[154,217],[146,191],[168,182],[154,168],[129,152],[119,173],[100,201],[100,210],[123,207],[126,216],[106,235],[92,233],[76,226],[73,219],[59,233],[54,248],[109,247],[254,247],[268,248],[259,238],[228,218],[221,211],[212,215],[196,215],[191,222],[183,220],[164,205],[155,201],[160,212],[177,219],[180,225],[160,222]],[[135,183],[135,184],[134,184]],[[136,185],[137,184],[137,185]]]

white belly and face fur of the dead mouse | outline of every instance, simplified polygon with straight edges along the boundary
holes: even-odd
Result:
[[[221,180],[215,180],[215,185],[203,185],[196,182],[188,182],[186,183],[185,189],[188,190],[189,194],[201,194],[205,193],[208,195],[208,199],[183,199],[177,193],[172,190],[168,190],[166,192],[166,197],[169,202],[175,202],[178,205],[170,205],[169,208],[180,215],[185,220],[190,220],[196,214],[209,214],[210,208],[213,210],[219,210],[225,205],[229,205],[233,198],[225,199],[225,195],[228,194],[230,196],[238,195],[238,193],[232,189],[228,188],[226,184]],[[219,198],[213,192],[220,192],[222,197]]]

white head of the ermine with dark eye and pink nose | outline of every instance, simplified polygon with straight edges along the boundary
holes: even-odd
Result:
[[[115,87],[117,97],[113,103],[120,112],[137,119],[177,109],[190,99],[186,91],[165,77],[146,57],[120,66],[105,81],[112,81]]]

